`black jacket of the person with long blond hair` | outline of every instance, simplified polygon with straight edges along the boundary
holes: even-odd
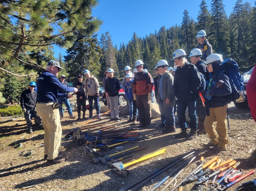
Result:
[[[182,68],[177,67],[173,81],[177,101],[196,101],[199,98],[198,88],[200,85],[201,76],[194,64],[186,62]]]

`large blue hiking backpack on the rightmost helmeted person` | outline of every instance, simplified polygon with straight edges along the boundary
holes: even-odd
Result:
[[[237,62],[231,58],[227,58],[226,60],[221,62],[220,66],[223,69],[221,73],[226,73],[231,86],[232,93],[230,102],[244,102],[245,97],[242,93],[242,91],[244,90],[244,77],[242,73],[240,73],[240,71],[238,70],[239,66]]]

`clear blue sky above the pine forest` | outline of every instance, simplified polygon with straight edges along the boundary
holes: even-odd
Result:
[[[247,0],[254,6],[254,0]],[[201,0],[98,0],[99,5],[92,10],[92,16],[103,21],[97,32],[98,39],[106,31],[111,35],[113,45],[119,48],[120,43],[127,44],[135,32],[145,37],[160,27],[169,28],[181,25],[185,9],[189,16],[197,21]],[[193,2],[193,3],[192,3]],[[206,0],[211,10],[211,0]],[[236,0],[223,0],[225,11],[229,17]],[[243,3],[245,0],[243,0]],[[54,47],[55,57],[59,53],[66,55],[65,49]]]

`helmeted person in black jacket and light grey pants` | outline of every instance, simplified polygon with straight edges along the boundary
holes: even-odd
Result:
[[[110,104],[110,120],[120,121],[119,110],[118,110],[118,92],[121,89],[119,81],[114,77],[114,70],[109,68],[108,70],[109,77],[106,80],[105,92],[109,95],[109,104]]]

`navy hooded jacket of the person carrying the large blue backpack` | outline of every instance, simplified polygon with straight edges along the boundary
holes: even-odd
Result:
[[[206,114],[208,113],[208,108],[221,107],[228,104],[228,101],[230,100],[230,94],[232,92],[228,77],[225,73],[221,73],[222,70],[220,65],[214,62],[212,63],[212,67],[213,75],[209,80],[208,87],[206,88],[212,98],[210,100],[206,99]],[[219,80],[224,81],[222,88],[214,88],[215,84]]]

